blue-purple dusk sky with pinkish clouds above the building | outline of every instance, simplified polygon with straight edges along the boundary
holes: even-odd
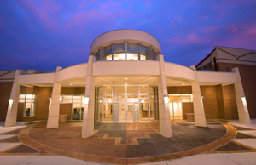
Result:
[[[87,62],[93,40],[116,29],[148,32],[166,61],[197,65],[217,45],[256,49],[256,1],[1,0],[0,70]]]

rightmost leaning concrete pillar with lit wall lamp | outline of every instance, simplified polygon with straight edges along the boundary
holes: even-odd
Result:
[[[236,68],[233,68],[232,71],[236,73],[235,91],[236,91],[236,105],[237,105],[239,122],[251,123],[250,115],[247,109],[247,100],[243,92],[239,70],[236,67]]]

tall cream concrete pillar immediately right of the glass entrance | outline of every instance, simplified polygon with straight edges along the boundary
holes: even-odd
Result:
[[[162,54],[157,56],[160,64],[160,76],[158,77],[158,103],[160,115],[160,134],[165,137],[172,137],[172,128],[170,121],[169,105],[165,104],[164,95],[167,93],[166,86],[166,68],[164,56]]]

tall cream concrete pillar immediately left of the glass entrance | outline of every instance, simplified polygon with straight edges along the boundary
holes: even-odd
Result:
[[[94,104],[95,104],[95,82],[93,77],[93,61],[95,57],[90,55],[87,65],[85,95],[89,96],[89,104],[84,104],[84,117],[82,138],[88,138],[94,134]]]

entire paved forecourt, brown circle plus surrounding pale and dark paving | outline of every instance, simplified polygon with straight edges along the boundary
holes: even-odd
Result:
[[[46,129],[45,122],[0,127],[0,164],[255,164],[256,124],[222,122],[208,122],[207,128],[174,122],[172,138],[158,134],[158,122],[96,122],[95,135],[88,139],[80,138],[81,122],[61,123],[55,129]]]

